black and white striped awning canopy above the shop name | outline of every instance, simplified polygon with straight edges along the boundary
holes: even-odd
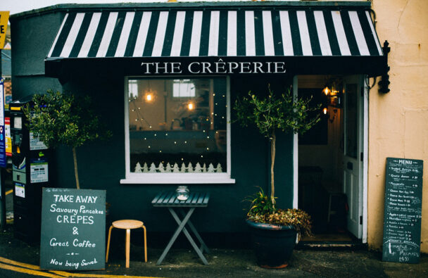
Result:
[[[301,8],[66,13],[46,60],[383,56],[370,12]]]

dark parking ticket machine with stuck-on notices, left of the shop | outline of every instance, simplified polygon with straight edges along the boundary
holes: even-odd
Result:
[[[49,149],[27,128],[23,108],[32,96],[9,105],[12,137],[13,225],[15,237],[40,240],[42,187],[49,187]]]

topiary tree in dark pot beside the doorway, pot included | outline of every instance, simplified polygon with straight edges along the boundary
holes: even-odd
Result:
[[[310,112],[310,99],[294,98],[287,93],[275,95],[269,87],[269,94],[260,98],[251,91],[248,96],[237,99],[234,110],[237,122],[242,126],[256,125],[260,134],[270,141],[270,196],[260,187],[260,192],[248,198],[251,208],[247,224],[253,234],[253,246],[258,265],[269,268],[287,267],[289,257],[296,244],[296,234],[310,234],[310,216],[303,210],[278,209],[275,206],[275,153],[276,134],[303,134],[320,120],[320,115]]]

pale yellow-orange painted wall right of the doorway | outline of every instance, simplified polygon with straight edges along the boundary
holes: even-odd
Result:
[[[370,91],[367,241],[382,248],[386,157],[422,159],[421,251],[428,253],[428,1],[373,0],[372,9],[380,41],[391,46],[391,91]]]

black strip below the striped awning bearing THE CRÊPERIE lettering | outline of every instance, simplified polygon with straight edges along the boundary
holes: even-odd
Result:
[[[66,79],[76,74],[113,74],[115,76],[160,76],[144,74],[141,63],[182,63],[182,73],[168,75],[196,75],[187,71],[192,62],[282,62],[285,73],[234,73],[230,75],[351,75],[367,74],[370,77],[382,75],[385,70],[385,56],[251,56],[251,57],[124,57],[124,58],[65,58],[46,59],[45,75]],[[203,75],[203,74],[197,74]],[[209,75],[226,75],[225,73]]]

